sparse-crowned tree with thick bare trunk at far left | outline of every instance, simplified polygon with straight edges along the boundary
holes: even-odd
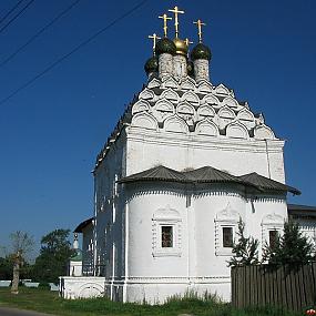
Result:
[[[11,293],[19,293],[19,282],[20,282],[20,268],[24,264],[27,256],[33,248],[34,239],[28,233],[17,231],[10,235],[12,243],[12,262],[13,262],[13,273],[12,273],[12,286]]]

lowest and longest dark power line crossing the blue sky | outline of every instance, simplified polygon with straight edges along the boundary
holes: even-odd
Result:
[[[41,78],[42,75],[44,75],[45,73],[48,73],[50,70],[52,70],[54,67],[57,67],[59,63],[61,63],[62,61],[64,61],[65,59],[68,59],[69,57],[71,57],[73,53],[75,53],[77,51],[79,51],[81,48],[83,48],[84,45],[89,44],[92,40],[94,40],[96,37],[101,35],[103,32],[105,32],[106,30],[109,30],[111,27],[113,27],[114,24],[116,24],[118,22],[120,22],[121,20],[123,20],[124,18],[126,18],[128,16],[130,16],[131,13],[133,13],[134,11],[136,11],[139,8],[141,8],[145,2],[147,2],[149,0],[143,0],[141,1],[139,4],[136,4],[135,7],[133,7],[132,9],[130,9],[129,11],[126,11],[124,14],[120,16],[119,18],[116,18],[115,20],[113,20],[111,23],[109,23],[106,27],[104,27],[103,29],[99,30],[98,32],[95,32],[93,35],[91,35],[89,39],[86,39],[85,41],[81,42],[79,45],[77,45],[73,50],[71,50],[69,53],[62,55],[61,58],[59,58],[57,61],[54,61],[53,63],[51,63],[48,68],[45,68],[43,71],[41,71],[40,73],[38,73],[35,77],[33,77],[31,80],[27,81],[24,84],[22,84],[21,86],[19,86],[17,90],[14,90],[11,94],[9,94],[7,98],[2,99],[0,101],[0,105],[2,105],[3,103],[6,103],[8,100],[10,100],[11,98],[13,98],[16,94],[18,94],[20,91],[24,90],[26,88],[28,88],[30,84],[32,84],[34,81],[37,81],[39,78]]]

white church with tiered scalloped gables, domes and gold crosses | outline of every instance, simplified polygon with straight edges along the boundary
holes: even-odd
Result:
[[[216,293],[231,299],[227,261],[239,218],[264,245],[293,216],[315,243],[316,207],[287,205],[285,141],[233,90],[210,80],[211,50],[188,52],[179,33],[153,34],[147,82],[128,106],[93,171],[94,214],[82,257],[61,277],[65,298],[106,296],[163,303],[175,294]]]

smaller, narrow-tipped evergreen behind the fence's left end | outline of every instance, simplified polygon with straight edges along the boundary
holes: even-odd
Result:
[[[228,261],[228,266],[254,265],[258,263],[259,242],[254,237],[245,237],[245,223],[239,218],[238,242],[233,246],[234,256]]]

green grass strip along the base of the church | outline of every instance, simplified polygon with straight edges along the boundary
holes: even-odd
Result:
[[[0,306],[32,309],[54,315],[113,315],[113,316],[177,316],[193,314],[195,316],[297,316],[303,314],[284,313],[275,308],[252,308],[248,310],[232,309],[230,304],[215,303],[214,299],[196,298],[173,299],[160,306],[139,305],[132,303],[110,302],[106,298],[67,300],[58,293],[48,289],[20,287],[18,295],[10,288],[0,288]]]

